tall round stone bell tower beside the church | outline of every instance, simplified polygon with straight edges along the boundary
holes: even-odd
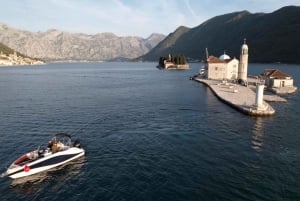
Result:
[[[247,81],[248,74],[248,45],[246,44],[246,39],[244,39],[244,44],[241,47],[238,79]]]

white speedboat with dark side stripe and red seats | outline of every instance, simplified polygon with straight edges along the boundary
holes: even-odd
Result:
[[[71,135],[58,133],[48,142],[47,148],[39,147],[22,155],[1,174],[1,177],[17,179],[33,175],[68,163],[84,153],[78,140],[73,143]]]

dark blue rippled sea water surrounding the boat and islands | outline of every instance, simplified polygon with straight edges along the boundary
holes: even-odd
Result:
[[[86,154],[35,176],[0,178],[1,201],[300,200],[300,96],[247,116],[190,76],[156,63],[50,63],[0,68],[0,172],[55,133]],[[280,69],[300,86],[300,65]]]

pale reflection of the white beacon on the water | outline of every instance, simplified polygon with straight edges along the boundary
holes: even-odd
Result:
[[[252,130],[252,148],[255,151],[261,151],[263,146],[263,136],[264,136],[264,117],[257,117],[253,130]]]

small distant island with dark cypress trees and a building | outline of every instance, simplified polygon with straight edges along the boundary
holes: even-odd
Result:
[[[168,57],[160,57],[157,65],[159,69],[175,69],[175,70],[187,70],[189,69],[189,64],[186,61],[184,55],[172,55],[169,54]]]

